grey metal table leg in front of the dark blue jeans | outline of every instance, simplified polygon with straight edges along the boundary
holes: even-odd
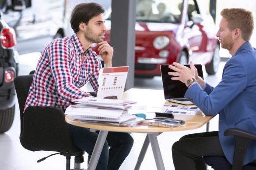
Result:
[[[94,149],[91,154],[91,159],[89,161],[87,170],[95,170],[96,169],[98,159],[99,159],[100,154],[102,153],[102,148],[104,146],[104,143],[105,143],[108,133],[109,133],[109,131],[105,131],[105,130],[101,130],[99,132],[97,141],[95,143]]]

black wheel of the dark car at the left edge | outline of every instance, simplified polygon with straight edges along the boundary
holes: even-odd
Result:
[[[10,109],[0,110],[0,133],[7,132],[13,123],[15,105]]]

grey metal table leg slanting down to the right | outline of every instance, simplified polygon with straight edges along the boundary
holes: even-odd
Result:
[[[157,134],[152,133],[152,134],[147,134],[147,135],[148,135],[149,141],[151,143],[151,147],[153,150],[154,160],[157,165],[157,169],[165,170],[164,162],[163,162],[161,152],[160,152],[160,147],[158,145],[158,139],[157,139],[158,133]]]

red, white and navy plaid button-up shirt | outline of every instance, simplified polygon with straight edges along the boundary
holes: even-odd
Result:
[[[81,56],[84,53],[84,61]],[[90,97],[80,88],[90,81],[98,92],[101,62],[91,47],[84,48],[76,34],[56,39],[42,52],[36,66],[24,110],[31,105],[66,109],[71,99]]]

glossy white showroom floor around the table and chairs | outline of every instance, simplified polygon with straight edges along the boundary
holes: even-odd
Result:
[[[35,69],[36,62],[38,60],[39,53],[24,54],[20,56],[20,75],[28,74],[29,71]],[[221,62],[219,71],[216,75],[205,76],[205,80],[211,85],[215,86],[221,79],[222,69],[224,62]],[[207,75],[204,72],[204,75]],[[86,87],[89,88],[89,87]],[[151,88],[151,89],[162,89],[161,78],[155,77],[154,79],[135,79],[134,88]],[[216,116],[210,121],[210,131],[217,130],[217,119]],[[166,170],[174,170],[172,164],[172,143],[177,141],[181,136],[188,133],[204,132],[206,126],[195,130],[178,131],[163,133],[158,136],[158,143],[160,146],[161,154],[165,164]],[[16,112],[14,118],[14,124],[11,129],[4,134],[0,134],[0,170],[65,170],[65,157],[56,155],[51,156],[48,159],[37,163],[36,161],[42,157],[48,156],[53,152],[37,151],[32,152],[25,150],[19,142],[20,133],[20,116],[18,109],[18,102],[16,105]],[[132,133],[134,138],[133,149],[129,156],[126,158],[120,170],[133,170],[137,161],[137,157],[140,153],[140,149],[143,145],[145,134]],[[82,168],[87,168],[87,155],[84,155],[85,162],[82,163]],[[71,167],[73,167],[74,160],[71,161]],[[149,146],[144,161],[141,164],[140,170],[157,170],[154,156]]]

